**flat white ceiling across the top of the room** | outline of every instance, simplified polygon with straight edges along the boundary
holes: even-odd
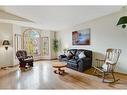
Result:
[[[0,9],[34,21],[43,29],[62,30],[119,11],[122,6],[4,6]]]

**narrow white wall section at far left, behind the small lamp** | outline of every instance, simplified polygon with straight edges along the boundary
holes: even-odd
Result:
[[[8,50],[2,46],[3,40],[9,40],[10,46]],[[12,24],[0,23],[0,68],[4,66],[11,66],[13,64],[12,52]]]

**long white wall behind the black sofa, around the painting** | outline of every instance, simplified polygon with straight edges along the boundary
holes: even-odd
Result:
[[[127,73],[127,29],[117,27],[117,21],[122,13],[103,16],[75,27],[59,32],[59,40],[63,48],[83,48],[93,51],[93,64],[95,58],[102,58],[107,48],[120,48],[122,54],[119,59],[117,71]],[[91,28],[90,46],[73,46],[72,31]]]

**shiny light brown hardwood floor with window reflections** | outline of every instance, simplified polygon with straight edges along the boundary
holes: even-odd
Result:
[[[37,61],[33,69],[19,69],[0,77],[0,89],[127,89],[127,76],[117,74],[120,81],[102,83],[102,79],[90,75],[91,70],[80,73],[65,68],[64,75],[53,72],[52,61]]]

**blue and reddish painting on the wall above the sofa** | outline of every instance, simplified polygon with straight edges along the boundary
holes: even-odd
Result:
[[[73,45],[90,45],[90,28],[72,32]]]

